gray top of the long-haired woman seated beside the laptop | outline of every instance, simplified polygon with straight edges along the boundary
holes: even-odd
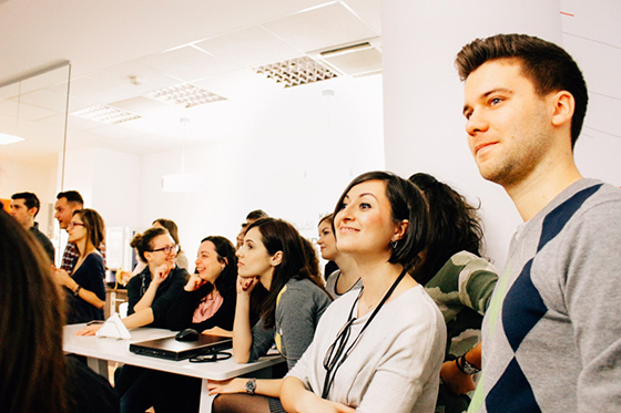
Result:
[[[328,295],[313,281],[292,278],[278,295],[275,326],[266,329],[261,319],[253,327],[248,362],[265,355],[275,342],[291,370],[313,341],[319,318],[330,302]]]

